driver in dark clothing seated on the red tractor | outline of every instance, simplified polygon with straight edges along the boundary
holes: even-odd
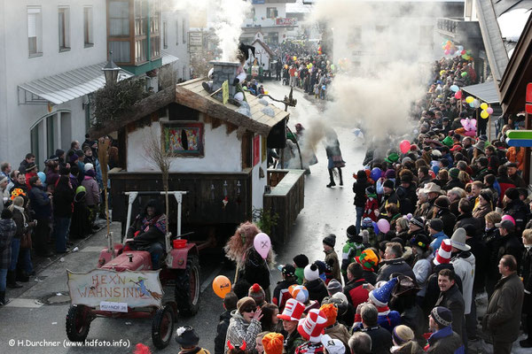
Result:
[[[159,202],[152,199],[129,227],[124,251],[147,250],[152,256],[153,269],[159,269],[165,251],[166,232],[167,217]]]

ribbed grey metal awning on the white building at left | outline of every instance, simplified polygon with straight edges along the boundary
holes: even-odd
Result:
[[[64,104],[75,98],[88,95],[106,85],[102,68],[106,62],[80,67],[78,69],[29,81],[19,85],[19,104]],[[125,70],[118,74],[118,80],[133,76]],[[23,92],[20,92],[23,91]]]

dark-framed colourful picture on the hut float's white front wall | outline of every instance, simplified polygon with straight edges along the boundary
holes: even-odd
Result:
[[[162,127],[164,149],[176,155],[203,156],[203,123],[171,122]]]

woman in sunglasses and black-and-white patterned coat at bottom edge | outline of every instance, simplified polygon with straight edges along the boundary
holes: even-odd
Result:
[[[224,352],[229,350],[227,342],[232,345],[242,345],[246,342],[249,345],[248,352],[254,353],[253,343],[256,336],[261,332],[262,311],[254,302],[254,299],[245,296],[237,303],[237,310],[231,312],[231,320],[227,328],[227,336]]]

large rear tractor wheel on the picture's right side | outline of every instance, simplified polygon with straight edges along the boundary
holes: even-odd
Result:
[[[198,312],[200,304],[200,259],[189,255],[186,268],[177,271],[176,303],[179,314],[190,317]]]

